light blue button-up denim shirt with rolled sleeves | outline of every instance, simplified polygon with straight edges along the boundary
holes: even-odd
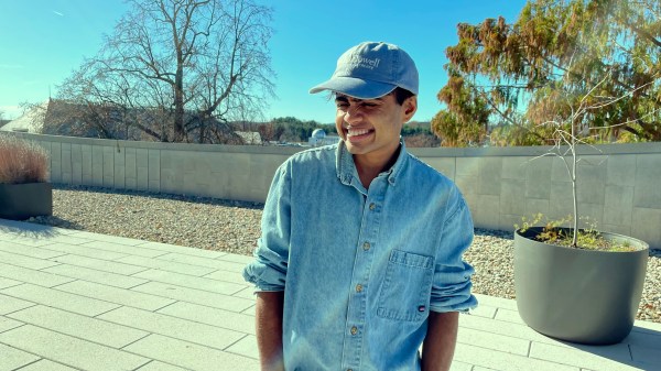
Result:
[[[275,173],[243,277],[284,291],[294,370],[420,370],[430,310],[465,312],[473,221],[457,187],[407,152],[366,189],[343,142]]]

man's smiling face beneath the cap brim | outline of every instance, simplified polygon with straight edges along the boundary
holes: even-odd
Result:
[[[387,162],[399,148],[402,126],[415,113],[418,100],[411,97],[400,106],[394,94],[376,99],[338,94],[335,105],[335,127],[347,150],[355,157]]]

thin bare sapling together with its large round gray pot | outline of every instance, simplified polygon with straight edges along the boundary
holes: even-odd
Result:
[[[576,128],[586,111],[618,99],[588,99],[599,84],[578,99],[568,118],[543,123],[552,128],[554,145],[540,156],[564,163],[573,215],[562,220],[524,218],[514,231],[514,290],[521,318],[541,334],[589,345],[616,343],[631,331],[649,254],[641,240],[599,231],[594,223],[578,225],[576,146],[590,144],[576,137]]]

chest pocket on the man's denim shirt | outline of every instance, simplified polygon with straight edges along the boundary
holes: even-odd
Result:
[[[434,258],[392,250],[381,285],[377,315],[395,320],[422,320],[429,310]]]

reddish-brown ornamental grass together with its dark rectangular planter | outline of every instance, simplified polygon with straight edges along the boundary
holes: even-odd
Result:
[[[0,134],[0,218],[53,215],[48,154],[34,142]]]

